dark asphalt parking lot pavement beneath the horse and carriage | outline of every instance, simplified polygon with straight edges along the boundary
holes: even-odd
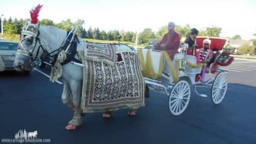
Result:
[[[223,69],[229,71],[229,84],[220,104],[192,91],[185,112],[173,116],[168,96],[150,91],[136,117],[127,116],[127,110],[115,111],[111,119],[86,114],[72,132],[64,129],[72,112],[60,98],[61,83],[35,70],[29,76],[1,72],[0,138],[13,139],[25,129],[37,130],[37,138],[50,143],[256,143],[256,62],[235,60]],[[39,70],[50,73],[49,67]],[[210,95],[209,88],[199,91]]]

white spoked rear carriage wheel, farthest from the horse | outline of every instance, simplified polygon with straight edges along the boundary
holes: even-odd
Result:
[[[228,87],[228,78],[225,72],[219,73],[211,87],[211,100],[215,104],[219,104],[225,97]]]

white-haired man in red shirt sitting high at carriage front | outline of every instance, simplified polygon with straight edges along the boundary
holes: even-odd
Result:
[[[168,23],[168,33],[164,34],[163,39],[154,45],[156,50],[165,50],[170,56],[171,59],[174,58],[174,55],[178,53],[180,45],[180,36],[179,33],[175,32],[175,23]]]

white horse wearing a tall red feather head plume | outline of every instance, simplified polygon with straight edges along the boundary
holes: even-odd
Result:
[[[51,55],[58,54],[59,51],[55,50],[62,47],[66,40],[66,31],[53,26],[39,27],[39,22],[34,22],[33,18],[31,19],[31,21],[28,21],[28,23],[24,25],[23,32],[21,32],[21,40],[18,49],[22,51],[16,55],[14,63],[14,67],[17,71],[31,70],[32,61],[36,59],[36,57],[38,58],[38,56],[44,54],[45,51]],[[78,37],[78,41],[77,51],[84,50],[86,41],[80,37]],[[129,47],[126,45],[116,45],[116,49],[127,50]],[[77,55],[75,55],[75,58],[77,58]],[[64,83],[62,101],[73,110],[73,119],[68,123],[66,129],[72,130],[81,125],[82,111],[80,104],[83,68],[71,63],[64,64],[62,66],[62,80]],[[129,111],[128,114],[135,115],[133,111]],[[110,114],[103,114],[103,117],[110,117]]]

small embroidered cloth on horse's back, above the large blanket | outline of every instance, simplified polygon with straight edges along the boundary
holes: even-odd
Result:
[[[110,43],[86,43],[87,56],[86,59],[97,62],[105,62],[114,66],[116,62],[116,51],[114,45]]]

